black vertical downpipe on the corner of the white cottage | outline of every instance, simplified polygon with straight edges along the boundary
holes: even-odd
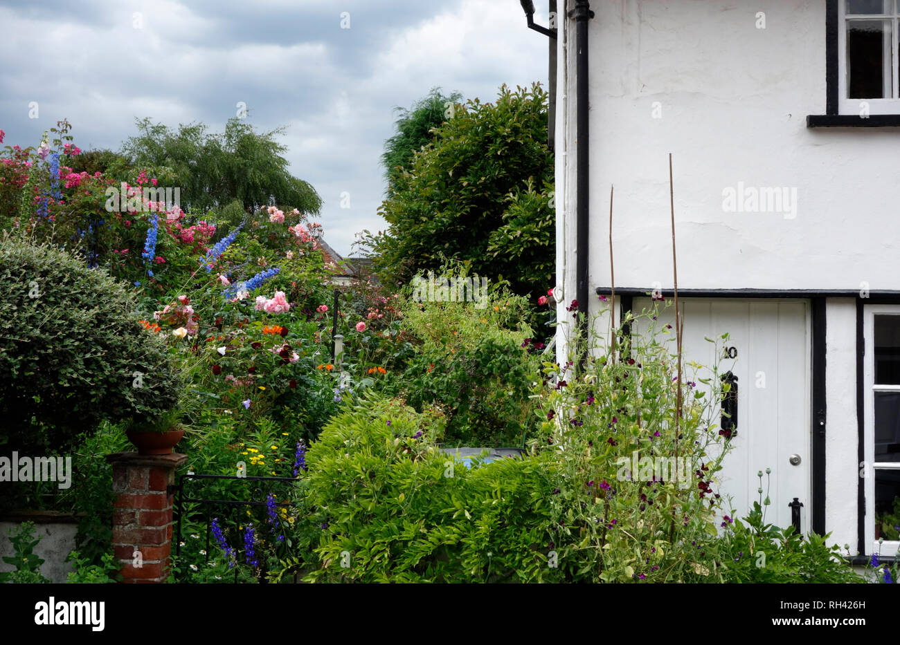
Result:
[[[581,348],[578,349],[579,366],[584,367],[588,357],[588,241],[590,233],[590,173],[589,163],[589,119],[588,119],[588,21],[594,17],[589,0],[576,0],[571,13],[575,19],[575,77],[577,118],[575,137],[576,151],[576,262],[577,286],[575,298],[578,300],[578,335]]]

